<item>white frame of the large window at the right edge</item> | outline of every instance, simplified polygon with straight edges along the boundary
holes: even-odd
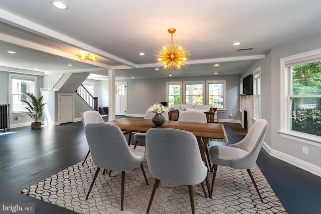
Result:
[[[307,144],[315,145],[321,147],[321,137],[304,134],[302,132],[295,132],[290,130],[290,98],[289,98],[289,75],[288,67],[291,65],[305,64],[317,61],[321,59],[321,49],[314,51],[309,51],[289,57],[284,57],[280,59],[280,130],[278,131],[281,137],[289,138],[292,140],[304,142]],[[320,61],[320,60],[318,60]]]

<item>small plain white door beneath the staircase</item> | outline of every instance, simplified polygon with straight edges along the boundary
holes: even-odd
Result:
[[[73,95],[59,96],[59,123],[73,122]]]

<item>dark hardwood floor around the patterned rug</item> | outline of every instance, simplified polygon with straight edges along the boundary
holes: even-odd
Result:
[[[243,138],[230,128],[237,124],[223,124],[230,143]],[[22,127],[1,131],[0,202],[35,202],[37,214],[74,213],[20,191],[82,161],[87,151],[82,122],[43,126],[39,130]],[[321,213],[320,177],[273,158],[263,149],[257,164],[288,213]]]

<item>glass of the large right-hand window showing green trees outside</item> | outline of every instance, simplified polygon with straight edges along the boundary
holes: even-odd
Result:
[[[321,136],[321,62],[289,71],[290,130]]]

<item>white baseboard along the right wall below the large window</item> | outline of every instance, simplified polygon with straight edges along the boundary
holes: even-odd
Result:
[[[296,166],[300,169],[303,169],[305,171],[308,171],[312,174],[315,174],[319,177],[321,177],[321,167],[316,166],[314,164],[311,164],[309,162],[306,162],[304,160],[298,159],[296,157],[293,157],[291,155],[285,154],[283,152],[277,151],[275,149],[272,149],[269,145],[267,145],[265,142],[263,142],[262,147],[267,151],[269,155],[272,157],[275,157],[277,159],[283,160],[289,164],[292,164],[293,166]]]

